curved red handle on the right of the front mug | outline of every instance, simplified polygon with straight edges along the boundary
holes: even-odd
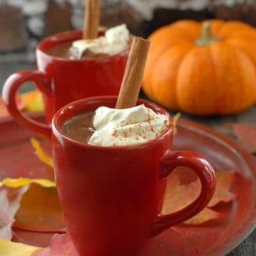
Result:
[[[154,220],[153,229],[150,234],[151,237],[169,229],[170,226],[177,225],[178,223],[185,222],[187,219],[192,218],[207,206],[214,195],[216,186],[214,168],[206,158],[194,151],[168,150],[161,160],[159,178],[166,178],[178,166],[186,166],[194,170],[201,182],[201,193],[194,202],[191,202],[189,206],[186,206],[182,210],[166,215],[159,214]]]

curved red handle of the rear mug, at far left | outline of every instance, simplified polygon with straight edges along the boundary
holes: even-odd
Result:
[[[9,113],[16,121],[20,122],[30,130],[33,130],[35,133],[50,139],[50,125],[28,118],[18,110],[16,94],[18,93],[18,88],[22,86],[23,82],[34,82],[38,90],[41,90],[44,94],[52,94],[52,82],[47,74],[41,71],[22,70],[11,74],[10,77],[7,78],[2,89],[2,100]]]

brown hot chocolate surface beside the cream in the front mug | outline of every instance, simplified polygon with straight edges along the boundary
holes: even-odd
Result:
[[[87,143],[94,134],[94,112],[78,114],[62,125],[62,133],[74,141]]]

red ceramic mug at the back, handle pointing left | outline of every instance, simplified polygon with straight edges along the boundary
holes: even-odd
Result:
[[[46,53],[53,46],[79,38],[82,38],[82,31],[73,30],[43,39],[36,50],[38,70],[22,70],[10,75],[2,90],[3,101],[14,119],[48,138],[50,134],[46,133],[45,124],[31,120],[18,110],[15,94],[23,82],[34,82],[42,91],[48,124],[62,106],[80,98],[118,95],[122,83],[129,47],[111,56],[76,60]]]

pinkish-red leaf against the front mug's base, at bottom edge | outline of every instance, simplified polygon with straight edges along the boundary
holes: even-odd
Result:
[[[54,234],[50,246],[38,251],[33,256],[79,256],[71,242],[69,234]]]

